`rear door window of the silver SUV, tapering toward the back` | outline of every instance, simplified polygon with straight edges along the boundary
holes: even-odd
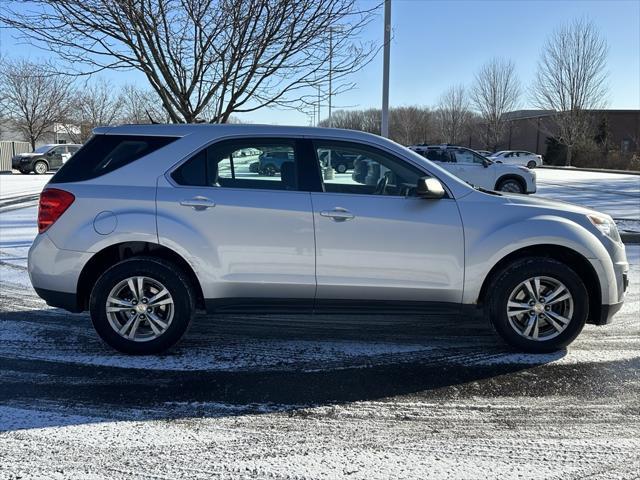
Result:
[[[247,139],[211,145],[178,167],[179,185],[263,190],[296,190],[294,140]]]

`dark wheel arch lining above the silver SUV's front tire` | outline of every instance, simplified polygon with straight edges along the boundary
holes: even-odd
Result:
[[[552,258],[564,263],[575,271],[584,282],[587,292],[589,293],[589,317],[587,323],[598,322],[600,310],[602,309],[602,286],[600,285],[598,274],[586,257],[562,245],[532,245],[515,250],[501,258],[489,271],[482,283],[477,300],[480,307],[486,305],[488,289],[493,278],[505,269],[507,265],[526,257]]]

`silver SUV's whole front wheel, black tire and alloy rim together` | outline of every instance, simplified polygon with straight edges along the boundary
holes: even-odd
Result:
[[[551,258],[517,260],[489,286],[493,326],[510,345],[532,353],[553,352],[571,343],[589,313],[580,277]]]

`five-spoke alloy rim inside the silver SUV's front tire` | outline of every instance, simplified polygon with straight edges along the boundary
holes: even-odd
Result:
[[[513,289],[507,301],[509,324],[519,335],[545,341],[560,335],[573,318],[574,302],[559,280],[536,276]]]

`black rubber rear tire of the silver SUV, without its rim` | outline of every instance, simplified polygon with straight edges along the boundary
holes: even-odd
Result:
[[[160,282],[173,298],[173,318],[157,338],[137,342],[121,336],[109,323],[107,297],[121,281],[144,276]],[[100,338],[119,352],[131,355],[151,355],[173,347],[186,333],[195,312],[193,287],[188,277],[170,262],[153,257],[133,257],[106,270],[98,279],[90,298],[91,321]]]

